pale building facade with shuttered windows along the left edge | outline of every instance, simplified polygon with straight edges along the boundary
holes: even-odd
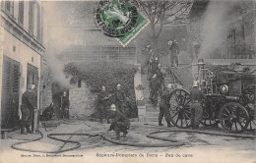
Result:
[[[43,2],[1,1],[0,18],[1,128],[19,127],[22,95],[36,85],[39,106],[40,67],[44,53]]]

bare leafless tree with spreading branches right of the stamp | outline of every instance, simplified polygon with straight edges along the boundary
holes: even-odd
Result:
[[[168,24],[184,24],[193,0],[133,0],[133,4],[147,16],[152,31],[152,41],[158,48],[162,27]]]

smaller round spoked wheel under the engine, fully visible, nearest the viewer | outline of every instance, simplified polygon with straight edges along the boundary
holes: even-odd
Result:
[[[219,119],[224,130],[232,133],[241,133],[247,129],[249,114],[239,103],[229,102],[224,104],[219,113]]]

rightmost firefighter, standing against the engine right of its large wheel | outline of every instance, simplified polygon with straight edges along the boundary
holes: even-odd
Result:
[[[199,123],[203,118],[203,106],[201,102],[205,98],[205,94],[198,88],[198,81],[193,81],[193,86],[190,89],[192,129],[199,129]]]

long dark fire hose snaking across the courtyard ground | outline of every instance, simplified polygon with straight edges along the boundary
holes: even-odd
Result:
[[[53,150],[53,151],[46,151],[46,150],[34,150],[34,149],[26,149],[19,147],[18,145],[24,144],[24,143],[29,143],[33,141],[37,141],[43,138],[43,135],[40,131],[36,131],[40,136],[37,138],[34,138],[32,140],[26,140],[22,142],[16,142],[12,144],[12,148],[16,150],[22,150],[22,151],[30,151],[30,152],[39,152],[39,153],[61,153],[65,151],[70,151],[70,150],[75,150],[77,148],[81,147],[81,143],[79,141],[75,140],[70,140],[69,139],[62,139],[56,136],[99,136],[102,137],[104,140],[107,140],[109,142],[119,144],[119,145],[128,145],[128,146],[139,146],[139,147],[169,147],[169,146],[181,146],[185,145],[188,142],[181,141],[175,138],[169,138],[169,137],[160,137],[160,136],[154,136],[156,134],[160,133],[171,133],[171,132],[180,132],[180,133],[195,133],[195,134],[204,134],[204,135],[212,135],[212,136],[232,136],[232,137],[242,137],[242,138],[256,138],[256,136],[250,136],[250,135],[239,135],[239,134],[226,134],[226,133],[214,133],[214,132],[209,132],[209,131],[195,131],[195,130],[189,130],[189,129],[165,129],[165,130],[159,130],[153,133],[150,133],[147,135],[149,138],[154,138],[154,139],[159,139],[167,142],[162,142],[162,143],[139,143],[139,142],[127,142],[127,141],[119,141],[119,140],[114,140],[109,136],[106,136],[104,134],[90,134],[90,133],[73,133],[73,134],[49,134],[47,137],[54,139],[54,140],[59,140],[62,142],[69,142],[75,144],[75,146],[66,148],[66,149],[58,149],[58,150]],[[63,146],[62,146],[63,147]]]

